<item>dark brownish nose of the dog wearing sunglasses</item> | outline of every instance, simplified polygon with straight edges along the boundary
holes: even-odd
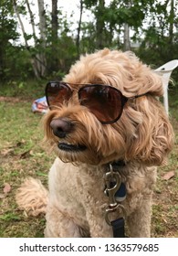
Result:
[[[50,123],[55,136],[58,138],[65,138],[67,133],[71,130],[71,123],[63,119],[53,119]]]

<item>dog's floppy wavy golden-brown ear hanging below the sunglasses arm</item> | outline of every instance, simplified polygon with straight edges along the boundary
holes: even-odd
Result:
[[[141,122],[136,127],[136,136],[126,146],[126,159],[137,159],[148,165],[165,164],[173,148],[173,127],[169,118],[152,94],[135,101]]]

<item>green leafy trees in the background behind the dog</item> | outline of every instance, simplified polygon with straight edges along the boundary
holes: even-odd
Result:
[[[161,3],[156,0],[110,0],[106,5],[104,0],[79,0],[83,3],[83,12],[88,10],[93,21],[81,22],[79,48],[77,48],[78,30],[73,30],[73,14],[70,18],[58,9],[58,31],[52,26],[51,13],[46,12],[46,42],[45,47],[40,38],[36,46],[25,48],[16,33],[16,16],[13,2],[0,2],[0,76],[1,80],[26,80],[34,77],[32,61],[39,55],[44,55],[44,65],[47,78],[61,79],[69,67],[81,54],[92,52],[98,48],[123,48],[124,24],[131,27],[131,40],[140,41],[141,47],[134,49],[146,63],[159,66],[177,56],[178,34],[173,33],[177,24],[177,5],[171,8],[173,1]],[[59,3],[58,3],[59,4]],[[28,11],[26,3],[17,1],[21,16]],[[33,2],[30,3],[33,5]],[[168,5],[170,6],[168,8]],[[33,14],[35,15],[35,14]],[[25,27],[26,28],[26,27]],[[56,37],[55,35],[58,35]],[[34,38],[26,31],[27,42]],[[25,86],[25,85],[23,85]],[[18,89],[19,90],[19,89]]]

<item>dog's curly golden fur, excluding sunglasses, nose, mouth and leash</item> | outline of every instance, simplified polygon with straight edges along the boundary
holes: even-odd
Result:
[[[119,172],[127,189],[122,204],[127,212],[129,235],[149,237],[156,166],[165,164],[173,147],[173,128],[158,100],[163,94],[162,78],[133,53],[105,48],[81,57],[64,81],[71,83],[74,90],[82,86],[77,84],[99,83],[119,89],[126,97],[146,95],[129,100],[120,119],[112,124],[99,123],[79,104],[77,93],[61,108],[47,113],[45,143],[58,157],[49,172],[46,236],[112,236],[104,219],[108,197],[103,194],[102,177],[108,163],[121,159],[126,163]],[[64,139],[58,139],[50,127],[51,121],[58,118],[74,125]],[[58,141],[84,144],[87,149],[77,153],[62,151]],[[29,209],[37,193],[31,190],[34,199],[26,200],[25,207],[27,183],[19,188],[16,200],[20,208]],[[38,193],[44,195],[38,186]]]

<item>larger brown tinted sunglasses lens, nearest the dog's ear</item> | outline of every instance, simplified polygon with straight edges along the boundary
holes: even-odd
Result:
[[[101,123],[113,123],[122,112],[120,91],[103,85],[89,85],[79,90],[80,104],[89,108]]]

